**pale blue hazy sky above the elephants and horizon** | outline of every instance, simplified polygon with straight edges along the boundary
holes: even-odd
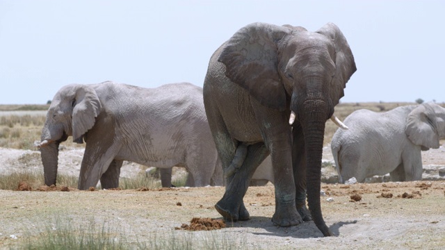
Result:
[[[445,1],[0,0],[0,104],[69,83],[202,86],[213,51],[252,22],[334,22],[357,72],[341,102],[445,101]]]

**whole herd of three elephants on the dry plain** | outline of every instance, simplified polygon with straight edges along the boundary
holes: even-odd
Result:
[[[216,49],[203,88],[66,85],[51,101],[38,145],[44,182],[56,184],[58,145],[72,136],[86,142],[80,190],[98,181],[118,187],[123,160],[161,168],[163,185],[171,185],[171,167],[181,166],[189,172],[187,185],[225,185],[215,208],[236,222],[250,218],[243,197],[251,181],[267,180],[275,185],[273,224],[313,220],[332,235],[320,203],[327,119],[350,128],[332,140],[341,180],[385,171],[397,180],[417,179],[420,149],[438,147],[445,135],[444,109],[433,103],[382,114],[360,110],[345,120],[348,127],[342,124],[334,107],[355,71],[335,24],[311,32],[254,23]]]

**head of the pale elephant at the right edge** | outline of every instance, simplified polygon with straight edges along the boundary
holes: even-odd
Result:
[[[405,133],[423,150],[438,149],[445,139],[445,108],[436,103],[423,103],[407,115]]]

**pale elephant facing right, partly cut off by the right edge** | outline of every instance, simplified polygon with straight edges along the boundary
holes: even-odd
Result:
[[[389,173],[391,181],[422,178],[421,151],[445,139],[445,108],[436,103],[401,106],[385,113],[356,110],[337,130],[331,149],[339,182]]]

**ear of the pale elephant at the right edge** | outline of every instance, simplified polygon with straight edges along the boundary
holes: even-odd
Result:
[[[433,108],[425,104],[414,108],[406,117],[405,133],[416,145],[438,149],[439,135]]]

